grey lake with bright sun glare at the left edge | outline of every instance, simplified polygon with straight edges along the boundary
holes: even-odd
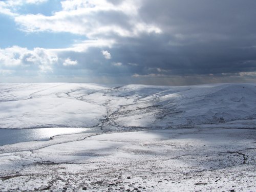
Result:
[[[40,128],[40,129],[0,129],[0,145],[26,141],[47,141],[55,135],[94,133],[95,128]]]

